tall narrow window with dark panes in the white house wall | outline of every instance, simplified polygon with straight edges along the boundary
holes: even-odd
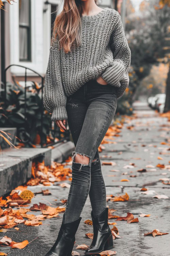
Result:
[[[19,60],[31,61],[31,0],[19,0]]]

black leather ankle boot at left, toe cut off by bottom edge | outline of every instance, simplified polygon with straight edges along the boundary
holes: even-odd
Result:
[[[73,222],[64,224],[64,214],[57,240],[46,256],[71,256],[75,242],[75,233],[82,218],[80,217]]]

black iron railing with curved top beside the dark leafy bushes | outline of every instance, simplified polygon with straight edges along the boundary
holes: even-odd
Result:
[[[20,67],[20,68],[24,68],[25,69],[25,75],[24,75],[24,125],[25,125],[25,128],[26,128],[26,125],[27,125],[27,82],[28,82],[28,76],[27,76],[27,71],[30,70],[32,71],[33,73],[35,73],[36,75],[38,75],[41,79],[41,87],[40,87],[40,90],[41,90],[41,104],[40,104],[40,114],[41,114],[41,126],[40,126],[40,137],[43,138],[43,120],[44,120],[44,111],[45,111],[45,108],[44,108],[44,103],[43,103],[43,87],[44,87],[44,77],[42,75],[40,75],[38,72],[28,68],[28,67],[24,67],[24,66],[21,66],[21,65],[15,65],[15,64],[12,64],[10,66],[8,66],[7,68],[4,69],[4,108],[6,109],[7,107],[7,100],[6,100],[6,71],[12,67],[12,66],[17,66],[17,67]],[[41,147],[47,147],[47,146],[51,146],[51,145],[54,145],[58,142],[62,142],[62,141],[67,141],[69,140],[70,138],[70,131],[67,127],[67,131],[66,132],[61,132],[60,131],[60,128],[56,125],[55,122],[52,122],[51,121],[51,127],[50,127],[50,135],[52,136],[52,138],[54,138],[54,140],[51,142],[51,143],[46,143],[44,144],[42,142],[42,140],[40,141],[40,145]],[[22,127],[22,129],[20,130],[20,134],[22,134],[22,136],[19,136],[21,142],[23,143],[29,143],[29,141],[31,140],[31,138],[28,136],[28,132],[26,132],[26,129],[24,129]],[[24,139],[23,139],[24,138]],[[55,138],[58,139],[58,141],[55,141]]]

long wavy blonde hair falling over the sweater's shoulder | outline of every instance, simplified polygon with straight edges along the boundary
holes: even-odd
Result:
[[[82,5],[80,0],[64,0],[64,7],[55,18],[53,24],[52,44],[56,37],[65,53],[74,46],[81,45],[81,16]]]

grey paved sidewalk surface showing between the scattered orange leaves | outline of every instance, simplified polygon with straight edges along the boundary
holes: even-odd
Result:
[[[102,165],[102,173],[105,180],[107,195],[118,196],[128,193],[129,201],[126,202],[107,202],[110,209],[117,210],[116,215],[126,216],[127,212],[133,213],[134,217],[138,217],[138,223],[127,224],[126,221],[115,221],[119,230],[120,239],[114,240],[113,251],[117,252],[117,256],[170,256],[170,234],[164,236],[144,236],[144,233],[151,232],[153,229],[159,229],[161,232],[170,233],[170,185],[163,184],[160,178],[169,178],[170,170],[160,169],[156,167],[158,163],[168,165],[169,148],[167,142],[169,137],[167,118],[160,117],[153,110],[146,108],[146,105],[136,103],[137,118],[130,120],[123,126],[120,137],[114,137],[116,144],[104,144],[105,149],[100,153],[101,161],[114,161],[116,166]],[[133,127],[131,130],[127,126]],[[160,154],[163,152],[163,154]],[[104,155],[111,156],[106,160]],[[159,160],[157,157],[162,157]],[[131,169],[123,168],[129,163],[134,163],[135,167]],[[146,165],[153,165],[154,168],[146,168]],[[70,166],[71,167],[71,166]],[[137,172],[139,169],[147,169],[147,172]],[[119,172],[111,172],[117,169]],[[156,171],[151,171],[156,169]],[[128,172],[128,174],[123,174]],[[167,173],[167,174],[162,174]],[[115,175],[115,176],[113,176]],[[130,177],[129,175],[136,175]],[[128,179],[129,182],[121,182],[121,179]],[[56,184],[57,185],[57,184]],[[141,194],[142,186],[155,190],[157,194],[164,194],[168,199],[153,198],[153,195]],[[50,186],[48,188],[52,195],[43,197],[37,195],[33,198],[32,203],[48,202],[53,205],[60,205],[61,199],[67,199],[69,188],[61,188],[59,186]],[[29,187],[33,192],[39,191],[40,186]],[[57,199],[57,201],[56,201]],[[85,233],[92,233],[92,226],[86,225],[84,221],[91,219],[91,206],[89,197],[85,203],[82,212],[82,221],[76,234],[76,242],[74,251],[84,255],[82,250],[77,250],[76,245],[90,245],[91,240],[85,236]],[[150,217],[139,217],[139,214],[151,214]],[[44,256],[53,245],[57,232],[62,223],[60,218],[47,219],[43,225],[39,227],[25,227],[20,225],[22,232],[7,231],[5,235],[12,237],[14,241],[37,240],[32,242],[22,250],[8,250],[11,256]],[[113,226],[111,226],[112,228]],[[2,250],[1,250],[2,251]]]

